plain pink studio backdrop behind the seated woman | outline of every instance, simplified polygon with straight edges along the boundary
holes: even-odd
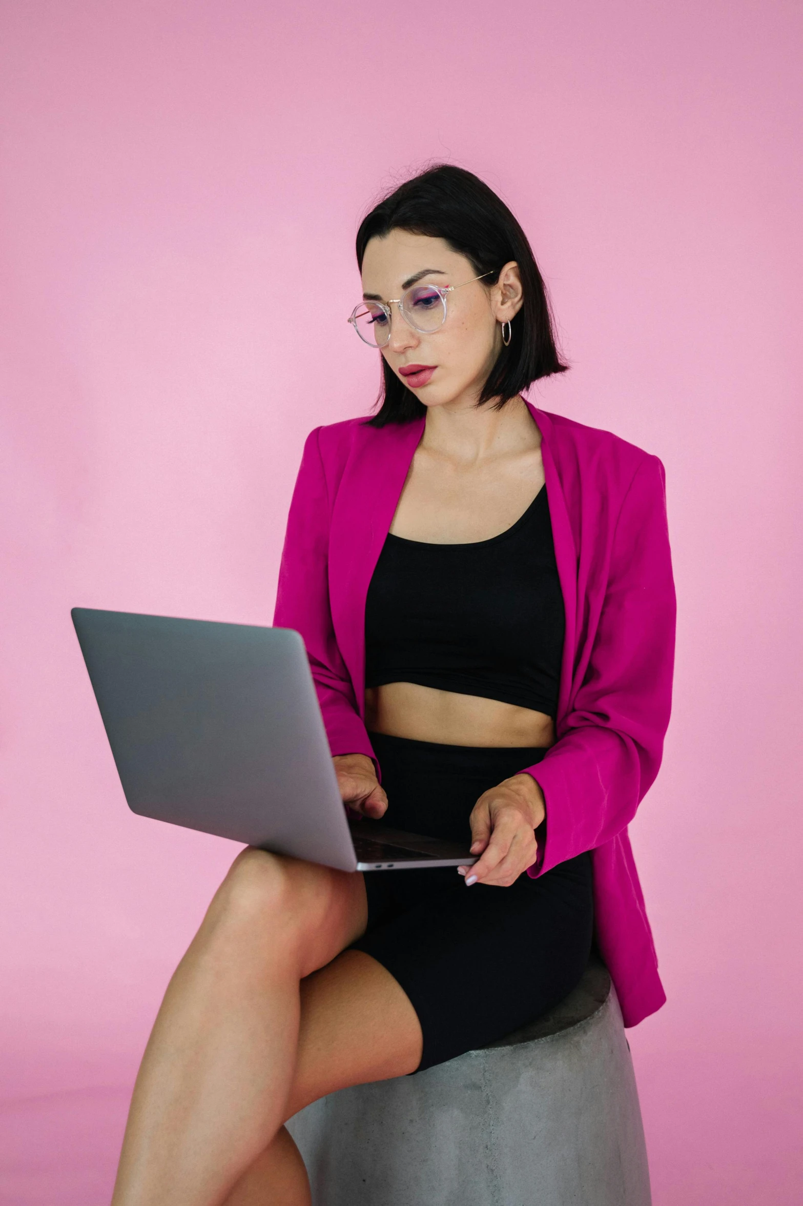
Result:
[[[353,235],[430,158],[530,233],[541,404],[667,467],[680,602],[633,826],[669,1003],[656,1206],[799,1201],[796,0],[26,0],[4,119],[0,1200],[108,1200],[167,977],[235,847],[132,816],[73,604],[268,624],[317,423],[364,412]]]

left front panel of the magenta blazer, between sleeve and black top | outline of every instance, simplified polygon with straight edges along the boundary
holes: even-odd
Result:
[[[361,718],[365,714],[365,601],[423,434],[423,418],[379,429],[361,427],[332,508],[330,608]]]

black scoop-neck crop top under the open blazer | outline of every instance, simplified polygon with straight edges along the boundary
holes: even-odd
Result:
[[[388,534],[366,599],[365,685],[418,683],[555,716],[563,631],[543,487],[490,540]]]

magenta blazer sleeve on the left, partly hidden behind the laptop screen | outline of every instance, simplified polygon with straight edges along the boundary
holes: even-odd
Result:
[[[315,428],[307,437],[290,502],[273,625],[295,628],[303,638],[332,755],[366,754],[374,759],[332,626],[329,603],[332,500],[319,432]]]

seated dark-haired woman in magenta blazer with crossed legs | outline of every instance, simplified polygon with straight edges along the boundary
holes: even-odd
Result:
[[[669,716],[661,463],[521,398],[565,365],[476,176],[408,181],[356,248],[382,408],[307,440],[276,624],[305,638],[344,802],[471,831],[478,861],[241,853],[154,1025],[116,1206],[307,1204],[288,1118],[522,1025],[592,941],[626,1024],[663,1001],[626,831]]]

